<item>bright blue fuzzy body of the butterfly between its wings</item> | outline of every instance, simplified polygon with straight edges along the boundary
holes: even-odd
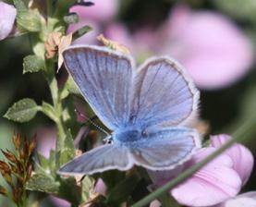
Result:
[[[146,130],[128,128],[114,132],[112,138],[116,144],[130,145],[133,142],[147,138],[147,135]]]

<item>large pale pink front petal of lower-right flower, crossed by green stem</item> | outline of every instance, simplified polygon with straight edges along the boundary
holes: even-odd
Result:
[[[213,148],[201,149],[187,164],[200,162],[214,151]],[[232,168],[233,162],[226,154],[221,154],[184,183],[171,190],[172,196],[181,204],[189,206],[209,206],[230,197],[241,189],[241,179]]]

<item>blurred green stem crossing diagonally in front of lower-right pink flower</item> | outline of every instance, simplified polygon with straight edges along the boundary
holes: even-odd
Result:
[[[220,147],[218,150],[207,156],[204,160],[202,160],[200,163],[193,165],[183,173],[181,173],[178,177],[175,179],[167,182],[164,186],[162,186],[159,189],[156,189],[152,191],[151,194],[144,197],[140,201],[136,202],[132,207],[141,207],[144,206],[151,201],[159,198],[163,193],[167,192],[169,189],[173,189],[178,184],[186,180],[187,178],[191,177],[194,173],[196,173],[198,170],[201,169],[205,164],[208,164],[211,162],[214,158],[216,158],[218,155],[220,155],[222,152],[225,152],[226,149],[228,149],[232,144],[234,144],[237,141],[243,140],[245,138],[245,134],[247,134],[248,131],[250,131],[251,128],[253,128],[254,120],[246,121],[244,125],[241,128],[238,128],[238,130],[233,133],[232,139],[227,141],[226,144],[224,144],[222,147]]]

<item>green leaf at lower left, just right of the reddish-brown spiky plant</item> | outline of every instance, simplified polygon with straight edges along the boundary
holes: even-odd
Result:
[[[30,177],[26,189],[37,190],[51,194],[57,194],[60,183],[55,181],[55,178],[46,174],[34,174]]]

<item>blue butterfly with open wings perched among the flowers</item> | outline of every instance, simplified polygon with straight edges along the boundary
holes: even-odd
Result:
[[[200,147],[200,135],[184,127],[197,114],[199,91],[176,61],[152,57],[136,68],[129,55],[89,45],[70,46],[63,56],[113,141],[65,164],[60,174],[124,171],[134,164],[169,170]]]

